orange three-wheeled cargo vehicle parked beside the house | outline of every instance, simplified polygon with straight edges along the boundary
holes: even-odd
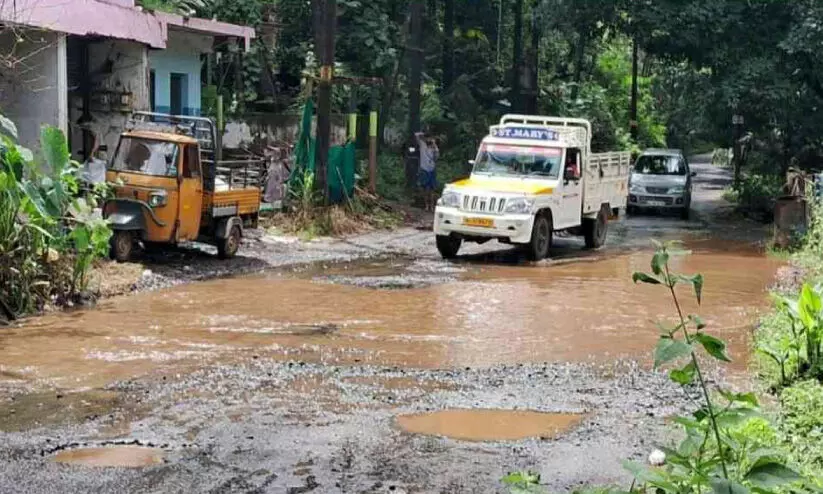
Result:
[[[222,161],[215,136],[210,119],[135,114],[106,171],[114,259],[128,260],[137,242],[198,241],[221,258],[237,253],[244,226],[257,222],[262,162]]]

